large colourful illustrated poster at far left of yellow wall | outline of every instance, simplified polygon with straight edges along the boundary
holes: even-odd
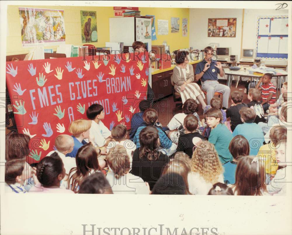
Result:
[[[22,46],[65,43],[64,10],[20,7]]]

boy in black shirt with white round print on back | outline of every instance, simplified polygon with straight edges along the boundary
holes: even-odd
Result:
[[[193,151],[202,140],[205,138],[197,132],[199,120],[193,114],[188,114],[183,122],[185,135],[180,135],[178,138],[178,147],[176,151],[183,151],[192,158]]]

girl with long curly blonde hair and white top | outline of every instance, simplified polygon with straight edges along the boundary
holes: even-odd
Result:
[[[190,193],[207,195],[213,184],[224,183],[223,167],[213,144],[203,141],[193,153],[187,176]]]

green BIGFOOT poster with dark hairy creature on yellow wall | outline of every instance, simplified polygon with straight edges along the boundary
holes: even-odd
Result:
[[[81,10],[81,38],[82,43],[95,43],[97,38],[96,11]]]

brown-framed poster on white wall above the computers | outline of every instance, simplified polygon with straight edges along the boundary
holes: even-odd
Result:
[[[208,37],[236,37],[236,18],[209,18]]]

